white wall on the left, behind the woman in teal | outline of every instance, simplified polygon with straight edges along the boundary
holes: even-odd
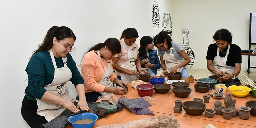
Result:
[[[120,38],[124,29],[133,27],[142,36],[161,31],[164,13],[173,16],[173,0],[158,0],[160,27],[153,28],[151,11],[154,0],[2,0],[1,35],[1,124],[2,127],[28,127],[21,116],[21,102],[27,86],[25,68],[32,52],[49,28],[68,26],[76,35],[77,64],[88,48],[107,38]],[[79,67],[78,67],[79,68]],[[79,69],[80,70],[80,69]],[[72,97],[77,93],[71,83]]]

